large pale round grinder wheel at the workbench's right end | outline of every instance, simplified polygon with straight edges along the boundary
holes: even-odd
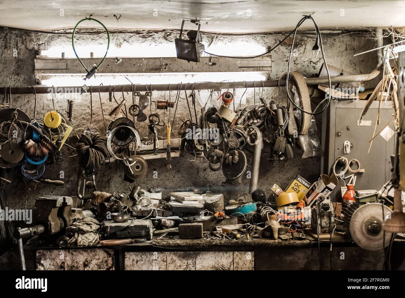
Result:
[[[378,251],[387,247],[391,233],[385,233],[382,229],[384,218],[391,209],[379,203],[369,203],[360,206],[350,220],[350,235],[354,242],[367,251]]]

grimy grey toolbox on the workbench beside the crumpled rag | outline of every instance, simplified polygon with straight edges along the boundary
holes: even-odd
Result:
[[[153,225],[150,219],[130,219],[125,223],[104,221],[103,231],[106,239],[146,238],[146,240],[152,240],[153,238]]]

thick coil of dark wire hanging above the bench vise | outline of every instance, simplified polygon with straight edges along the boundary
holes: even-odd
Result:
[[[101,163],[109,158],[107,137],[94,133],[81,135],[76,145],[79,167],[86,175],[96,175]]]

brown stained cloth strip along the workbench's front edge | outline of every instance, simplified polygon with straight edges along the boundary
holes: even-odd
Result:
[[[214,240],[214,239],[166,239],[160,238],[152,240],[153,246],[157,247],[310,247],[311,241],[304,240],[271,240],[271,239],[251,239],[248,240]]]

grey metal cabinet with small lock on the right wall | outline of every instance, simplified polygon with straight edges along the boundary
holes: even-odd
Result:
[[[322,147],[324,156],[321,159],[321,172],[332,173],[332,166],[338,157],[347,159],[358,159],[364,173],[357,174],[355,190],[380,189],[382,185],[391,178],[390,169],[392,167],[390,156],[394,154],[394,136],[388,141],[381,135],[377,135],[373,140],[370,152],[370,140],[373,137],[375,121],[377,119],[378,101],[374,101],[362,122],[359,123],[360,114],[366,101],[330,101],[330,107],[323,114],[322,119]],[[394,109],[391,101],[382,102],[380,110],[381,122],[377,125],[378,133],[390,121]],[[389,124],[394,131],[394,120]],[[350,152],[345,152],[345,142],[350,143]],[[346,143],[347,144],[347,143]],[[357,165],[352,165],[353,169]],[[337,167],[337,172],[342,168]],[[349,171],[345,174],[351,174]],[[348,180],[348,179],[347,179]],[[347,182],[346,180],[346,182]],[[340,186],[344,183],[339,179],[339,185],[333,192],[334,201],[341,201]]]

